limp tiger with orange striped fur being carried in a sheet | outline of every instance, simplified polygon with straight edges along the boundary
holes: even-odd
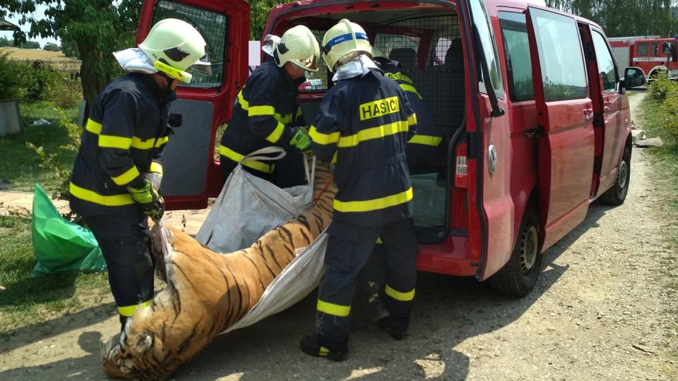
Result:
[[[129,320],[119,341],[102,348],[106,374],[161,380],[189,361],[254,307],[295,250],[308,246],[330,224],[335,193],[328,166],[318,163],[313,207],[251,247],[227,255],[170,228],[172,277],[153,303]]]

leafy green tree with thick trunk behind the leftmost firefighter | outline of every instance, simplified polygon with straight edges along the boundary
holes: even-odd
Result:
[[[85,100],[95,98],[119,73],[111,52],[133,46],[142,0],[0,0],[0,17],[19,14],[20,25],[29,24],[28,37],[59,37],[76,47],[82,61],[81,82]],[[47,6],[45,18],[33,16],[35,7]],[[16,42],[27,33],[14,32]]]

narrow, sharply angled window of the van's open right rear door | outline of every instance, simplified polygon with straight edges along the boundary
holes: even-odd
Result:
[[[501,78],[501,70],[499,70],[499,53],[496,50],[496,40],[494,39],[494,32],[489,27],[489,18],[487,17],[487,10],[485,9],[485,2],[480,0],[471,0],[471,16],[473,23],[478,28],[480,35],[480,43],[482,44],[482,51],[485,54],[485,61],[489,69],[489,80],[492,82],[496,97],[504,99],[504,80]],[[487,93],[484,83],[479,83],[480,92]]]

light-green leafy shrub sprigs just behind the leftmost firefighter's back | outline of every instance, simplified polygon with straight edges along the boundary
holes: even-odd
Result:
[[[66,128],[68,134],[68,142],[59,147],[59,150],[71,152],[75,155],[80,147],[80,139],[83,129],[78,124],[73,123],[69,116],[66,116],[64,110],[57,107],[59,114],[59,123]],[[59,198],[61,200],[68,200],[69,198],[69,183],[71,182],[72,167],[70,164],[64,164],[59,159],[60,155],[57,152],[45,152],[42,146],[37,147],[35,144],[26,142],[26,147],[29,147],[35,155],[39,157],[40,164],[38,166],[42,169],[47,169],[49,176],[56,181],[58,188],[54,191],[52,198]]]

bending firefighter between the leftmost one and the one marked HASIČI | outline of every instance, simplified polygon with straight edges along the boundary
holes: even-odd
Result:
[[[269,36],[270,37],[270,36]],[[266,49],[264,49],[266,51]],[[306,182],[302,151],[310,140],[297,104],[304,71],[318,71],[320,48],[309,28],[297,25],[274,41],[272,60],[254,70],[234,99],[233,117],[221,137],[222,181],[251,152],[278,145],[287,155],[277,164],[245,162],[249,173],[273,181],[280,188]]]

